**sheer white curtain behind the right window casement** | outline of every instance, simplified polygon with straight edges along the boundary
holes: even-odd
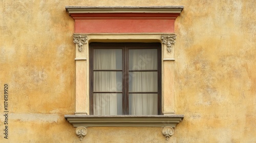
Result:
[[[157,50],[129,51],[130,70],[156,70]],[[157,71],[130,71],[130,92],[157,92]],[[130,93],[130,114],[157,114],[157,93]]]

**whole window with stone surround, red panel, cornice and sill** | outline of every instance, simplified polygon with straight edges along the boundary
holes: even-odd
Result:
[[[175,114],[173,46],[182,9],[66,7],[75,22],[76,104],[65,118],[80,140],[85,127],[164,127],[166,139],[173,135],[184,117]]]

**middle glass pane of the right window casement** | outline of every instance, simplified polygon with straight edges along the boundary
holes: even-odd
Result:
[[[157,92],[157,71],[130,71],[129,92]]]

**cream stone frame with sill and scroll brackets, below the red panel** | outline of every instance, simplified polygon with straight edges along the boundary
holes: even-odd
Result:
[[[184,115],[175,114],[176,35],[173,33],[75,33],[73,39],[76,44],[76,106],[75,115],[65,115],[65,118],[76,127],[76,134],[80,140],[87,134],[86,127],[163,127],[162,134],[168,140],[174,134],[176,125],[184,118]],[[160,42],[163,115],[89,115],[90,42]]]

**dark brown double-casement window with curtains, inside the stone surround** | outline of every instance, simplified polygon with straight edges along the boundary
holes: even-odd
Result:
[[[90,47],[90,113],[161,114],[161,44],[97,43]]]

